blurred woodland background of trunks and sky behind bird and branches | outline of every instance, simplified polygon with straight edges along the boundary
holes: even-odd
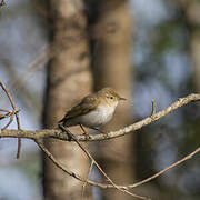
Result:
[[[56,127],[79,99],[112,87],[129,99],[106,128],[118,130],[150,116],[152,99],[161,110],[199,92],[199,0],[7,0],[0,7],[0,80],[28,130]],[[8,108],[1,90],[0,109]],[[199,104],[190,103],[131,136],[91,143],[90,152],[117,183],[133,183],[198,148],[199,119]],[[44,144],[87,176],[89,161],[74,144],[52,139]],[[82,184],[54,168],[33,141],[23,139],[21,158],[16,153],[16,139],[0,139],[0,200],[82,199]],[[102,181],[96,169],[91,179]],[[133,199],[90,189],[83,199]],[[200,199],[199,154],[132,191],[152,199]]]

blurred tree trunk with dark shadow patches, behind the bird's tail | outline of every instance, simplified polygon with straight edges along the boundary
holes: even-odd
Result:
[[[91,90],[86,16],[82,1],[51,0],[51,59],[48,66],[43,124],[56,128],[64,112]],[[72,128],[72,133],[80,133]],[[88,160],[76,143],[44,140],[59,162],[86,177]],[[81,199],[82,183],[43,158],[43,194],[47,200]]]

